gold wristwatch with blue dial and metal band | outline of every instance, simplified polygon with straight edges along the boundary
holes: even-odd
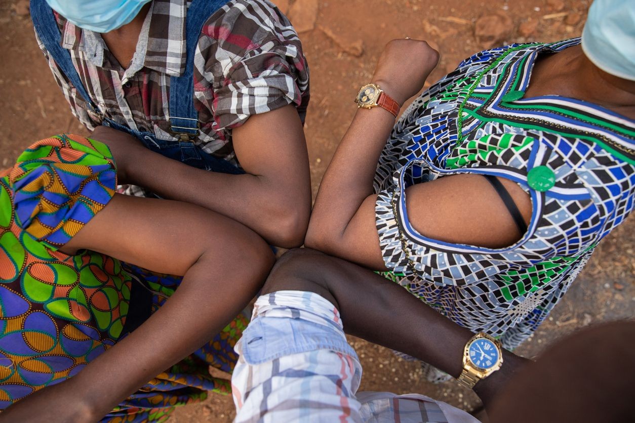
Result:
[[[503,363],[500,341],[488,334],[474,335],[463,350],[463,371],[458,382],[472,389],[481,379],[485,379],[500,368]]]

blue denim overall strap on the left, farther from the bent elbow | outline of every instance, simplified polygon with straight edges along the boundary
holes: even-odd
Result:
[[[43,42],[48,54],[69,79],[70,83],[77,90],[77,93],[86,101],[86,105],[88,105],[93,112],[99,114],[95,103],[93,103],[93,100],[91,100],[84,88],[84,84],[82,84],[72,60],[70,60],[69,51],[62,47],[62,34],[60,34],[55,15],[53,15],[53,10],[45,0],[31,0],[30,12],[37,36],[40,41]]]

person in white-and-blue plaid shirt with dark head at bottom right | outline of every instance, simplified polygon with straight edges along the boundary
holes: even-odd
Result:
[[[405,317],[411,325],[399,324]],[[363,369],[344,331],[409,351],[453,375],[461,368],[456,341],[471,336],[369,270],[292,250],[274,266],[236,344],[235,421],[478,422],[422,394],[359,392]],[[504,351],[503,367],[475,386],[488,421],[629,421],[634,334],[635,322],[598,325],[557,341],[536,363]]]

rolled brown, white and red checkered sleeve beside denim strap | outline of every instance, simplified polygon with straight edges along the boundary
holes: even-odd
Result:
[[[199,41],[195,63],[208,86],[215,129],[240,126],[253,114],[293,104],[301,117],[309,98],[309,69],[302,44],[289,20],[264,0],[236,0],[212,16]]]

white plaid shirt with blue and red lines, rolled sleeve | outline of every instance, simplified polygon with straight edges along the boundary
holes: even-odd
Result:
[[[340,313],[312,292],[285,290],[258,298],[235,349],[236,423],[478,423],[424,395],[357,393],[362,369]]]

